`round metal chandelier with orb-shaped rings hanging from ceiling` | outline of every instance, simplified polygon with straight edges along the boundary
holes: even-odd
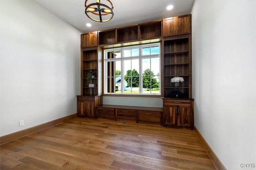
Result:
[[[106,0],[111,6],[111,8],[105,4],[101,4],[100,0],[97,0],[96,3],[92,3],[87,5],[88,0],[84,2],[85,6],[85,14],[91,19],[96,22],[107,22],[111,20],[114,16],[113,13],[113,4],[110,2],[110,0]],[[99,19],[96,19],[96,17]]]

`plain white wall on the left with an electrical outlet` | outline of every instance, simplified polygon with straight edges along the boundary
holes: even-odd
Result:
[[[0,136],[76,113],[80,34],[32,0],[0,1]]]

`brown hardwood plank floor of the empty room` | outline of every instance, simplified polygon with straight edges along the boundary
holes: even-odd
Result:
[[[193,130],[74,118],[0,146],[1,170],[211,170]]]

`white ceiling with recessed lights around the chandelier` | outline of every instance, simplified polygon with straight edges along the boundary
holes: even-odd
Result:
[[[194,3],[194,0],[111,0],[114,6],[114,17],[108,22],[100,23],[86,16],[84,0],[35,1],[83,33],[190,14]],[[96,3],[96,0],[88,0],[87,4],[91,3]],[[101,0],[101,3],[107,4],[105,0]],[[173,5],[173,9],[167,10],[168,5]],[[87,27],[87,23],[92,26]]]

